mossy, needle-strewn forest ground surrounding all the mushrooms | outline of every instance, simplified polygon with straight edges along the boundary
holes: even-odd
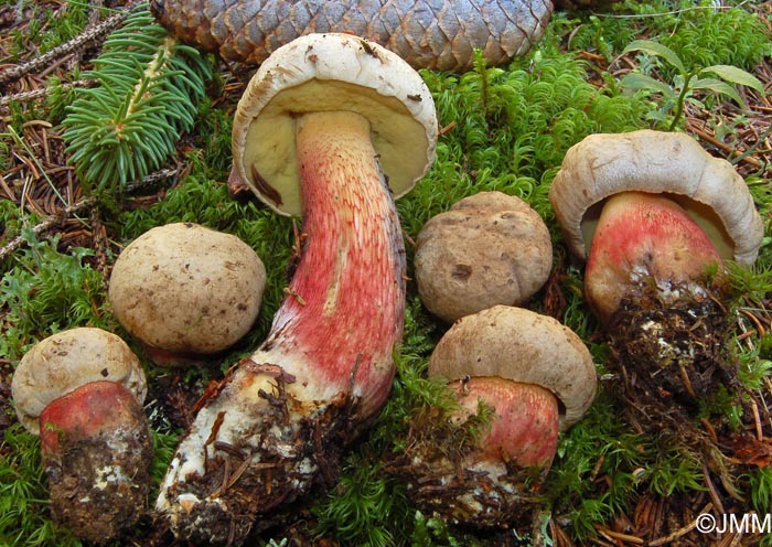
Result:
[[[120,26],[109,21],[125,4],[0,2],[0,546],[81,545],[50,518],[39,440],[17,420],[11,377],[26,350],[60,330],[100,326],[132,343],[106,298],[122,247],[153,226],[195,222],[237,235],[268,269],[257,323],[218,366],[159,368],[132,345],[150,382],[151,500],[196,399],[265,337],[288,283],[292,222],[249,195],[234,196],[227,185],[232,117],[254,67],[202,57],[196,69],[205,87],[192,92],[200,94],[191,101],[192,124],[167,136],[169,157],[141,178],[84,182],[71,162],[63,139],[66,107],[94,85],[87,71],[105,36]],[[99,24],[107,25],[104,32],[78,40]],[[677,71],[646,52],[625,51],[634,40],[668,46],[687,69],[741,68],[768,93],[732,86],[744,103],[739,105],[727,94],[687,89],[678,115]],[[772,545],[769,523],[765,533],[748,534],[695,526],[704,513],[719,523],[730,513],[755,513],[759,522],[772,513],[771,56],[770,2],[626,0],[558,6],[544,39],[507,66],[479,62],[465,74],[422,72],[442,129],[433,168],[397,204],[408,272],[420,228],[462,197],[496,190],[527,201],[547,223],[555,256],[549,281],[526,307],[581,336],[598,369],[599,395],[586,418],[561,435],[538,508],[518,515],[512,528],[480,532],[421,513],[398,474],[384,472],[404,453],[411,425],[447,404],[444,389],[425,372],[448,326],[422,308],[410,280],[386,407],[344,455],[337,484],[282,510],[274,521],[281,524],[256,533],[250,545]],[[634,89],[630,74],[660,86]],[[765,227],[754,267],[730,269],[728,321],[721,321],[721,339],[709,341],[736,395],[710,384],[699,405],[678,410],[652,403],[647,393],[618,389],[609,363],[620,346],[610,346],[582,298],[582,265],[569,257],[547,199],[566,151],[583,137],[671,126],[735,164]],[[632,343],[622,351],[637,354]],[[458,442],[458,431],[447,435]],[[153,525],[149,508],[115,545],[181,544]]]

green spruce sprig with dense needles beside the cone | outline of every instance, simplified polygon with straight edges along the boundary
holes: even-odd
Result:
[[[156,23],[142,4],[105,41],[94,88],[75,89],[63,138],[86,194],[121,193],[160,169],[193,127],[211,65]]]

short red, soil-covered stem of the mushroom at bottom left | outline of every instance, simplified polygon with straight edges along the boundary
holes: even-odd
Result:
[[[43,464],[54,521],[103,545],[146,511],[152,439],[135,395],[115,382],[92,382],[40,415]]]

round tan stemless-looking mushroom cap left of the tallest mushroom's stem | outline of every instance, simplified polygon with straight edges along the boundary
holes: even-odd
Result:
[[[112,312],[132,336],[169,352],[213,354],[260,310],[266,269],[238,237],[191,223],[152,228],[116,260]]]

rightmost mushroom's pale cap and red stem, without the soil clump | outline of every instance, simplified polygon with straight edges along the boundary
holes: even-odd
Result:
[[[719,257],[752,264],[763,236],[742,178],[684,133],[591,135],[567,152],[549,199],[569,248],[607,276],[594,285],[586,276],[588,301],[604,322],[645,278],[671,289]],[[604,219],[607,204],[613,211]]]

